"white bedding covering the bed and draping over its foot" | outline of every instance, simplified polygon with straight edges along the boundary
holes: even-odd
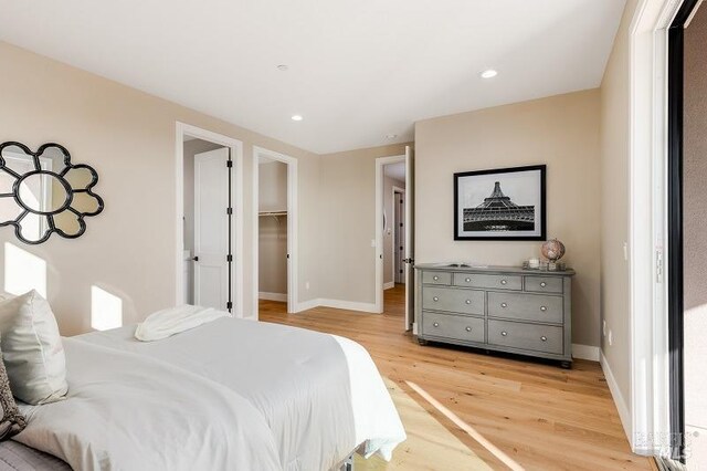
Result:
[[[95,408],[95,415],[101,416],[102,408],[115,407],[110,405],[110,400],[118,401],[123,395],[134,398],[135,401],[128,401],[123,408],[129,408],[133,410],[131,414],[125,417],[117,414],[112,416],[112,420],[116,420],[115,427],[122,430],[118,436],[125,435],[120,442],[124,451],[117,453],[120,460],[124,459],[124,454],[149,454],[149,449],[155,449],[161,440],[162,436],[150,425],[151,420],[149,423],[140,420],[139,423],[145,428],[130,430],[138,411],[149,409],[149,414],[158,414],[152,409],[167,407],[173,414],[167,414],[169,417],[160,419],[163,420],[165,427],[182,432],[186,429],[189,430],[189,437],[198,437],[204,432],[211,433],[211,419],[204,419],[204,423],[180,423],[179,414],[183,405],[189,402],[203,407],[207,410],[199,416],[208,414],[207,417],[210,417],[224,408],[224,401],[231,402],[231,411],[229,412],[226,407],[226,414],[215,423],[218,428],[221,427],[221,421],[232,422],[236,439],[226,440],[222,436],[210,435],[211,441],[207,443],[207,449],[226,450],[202,453],[221,457],[214,458],[221,461],[207,467],[201,462],[196,465],[191,458],[193,451],[186,447],[183,452],[176,454],[182,457],[180,465],[172,462],[169,469],[328,470],[360,443],[366,443],[367,454],[379,451],[384,458],[390,458],[392,449],[405,439],[398,412],[376,366],[368,353],[351,341],[294,327],[230,317],[151,343],[136,341],[133,337],[134,328],[92,333],[66,342],[70,399],[63,402],[64,415],[57,416],[54,412],[59,409],[46,409],[48,411],[42,414],[34,410],[28,427],[31,433],[22,436],[24,443],[52,454],[56,454],[57,449],[64,452],[62,447],[55,446],[55,439],[46,440],[46,430],[57,426],[57,421],[62,420],[57,417],[65,418],[65,414],[70,414],[72,408],[84,407],[85,404],[81,401],[88,401]],[[102,352],[112,352],[116,358],[123,358],[124,355],[127,355],[126,358],[129,357],[129,360],[120,359],[118,365],[123,365],[123,362],[144,360],[150,373],[146,375],[141,366],[138,368],[139,373],[130,370],[127,366],[113,371],[114,365],[110,362],[98,368],[94,359],[77,360],[76,355],[72,353],[94,345]],[[160,368],[169,373],[162,375],[152,371]],[[115,384],[110,384],[110,387],[128,389],[120,395],[92,389],[91,394],[107,395],[105,399],[92,402],[84,394],[81,380],[96,373],[103,373],[106,380],[115,378]],[[152,375],[163,378],[163,381],[155,385],[151,381]],[[136,376],[143,380],[136,381]],[[123,385],[126,380],[129,386],[116,386]],[[218,407],[202,405],[202,393],[197,393],[191,387],[192,384],[199,385],[198,388],[209,389],[210,393],[205,397],[217,395]],[[144,395],[139,393],[144,388],[147,389],[145,401],[141,400]],[[77,393],[80,397],[76,397]],[[253,412],[257,420],[252,417]],[[41,421],[34,420],[40,416]],[[256,422],[253,433],[240,436],[244,428],[250,429],[249,423],[253,421]],[[223,423],[223,427],[228,429],[226,423]],[[268,437],[262,437],[263,425],[270,433]],[[38,426],[43,429],[42,432],[39,432]],[[76,425],[77,429],[81,427]],[[99,426],[92,427],[95,428],[87,427],[86,430],[94,430],[98,435],[97,438],[77,431],[76,435],[81,437],[74,439],[81,444],[80,448],[85,456],[96,454],[101,450],[98,446],[105,446],[104,441],[112,444],[110,437],[101,437],[101,432],[97,431],[101,430]],[[146,447],[140,437],[148,435],[154,437],[154,442]],[[131,444],[137,448],[129,448]],[[247,447],[254,454],[243,452],[242,447]],[[137,450],[140,450],[140,453],[137,453]],[[62,454],[59,456],[64,458]],[[162,457],[160,452],[155,459],[159,461]],[[201,459],[200,454],[194,457]],[[232,457],[240,461],[230,462]],[[123,468],[123,461],[117,461],[112,453],[107,453],[104,459],[109,465],[85,469],[148,469],[137,465],[135,459],[130,461],[130,467]],[[251,459],[255,461],[249,461]],[[68,459],[66,461],[72,464]],[[147,463],[148,460],[140,462]],[[149,462],[154,464],[152,461]],[[149,469],[166,468],[150,465]]]

